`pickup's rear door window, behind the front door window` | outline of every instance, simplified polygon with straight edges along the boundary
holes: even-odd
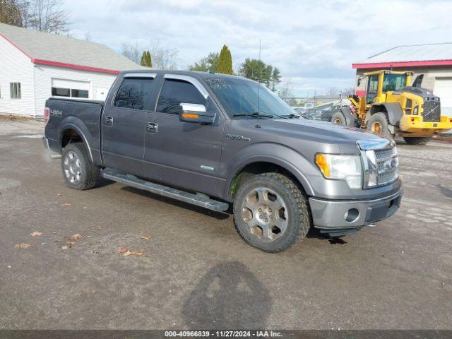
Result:
[[[150,110],[153,78],[125,78],[114,98],[114,107]]]

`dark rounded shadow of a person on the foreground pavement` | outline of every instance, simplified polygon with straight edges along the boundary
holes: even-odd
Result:
[[[256,276],[239,261],[208,270],[182,308],[188,328],[266,328],[272,300]]]

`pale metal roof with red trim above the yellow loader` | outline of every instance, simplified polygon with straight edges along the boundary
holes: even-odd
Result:
[[[356,64],[354,69],[452,65],[452,43],[398,46]]]

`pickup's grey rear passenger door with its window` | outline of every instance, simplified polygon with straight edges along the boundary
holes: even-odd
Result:
[[[153,100],[155,73],[126,73],[102,113],[102,158],[106,167],[143,175],[146,114]],[[112,90],[115,90],[113,88]]]

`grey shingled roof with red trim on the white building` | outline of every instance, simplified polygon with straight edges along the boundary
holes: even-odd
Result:
[[[0,37],[11,42],[34,64],[112,74],[141,68],[113,49],[97,42],[37,32],[4,23],[0,23]]]

